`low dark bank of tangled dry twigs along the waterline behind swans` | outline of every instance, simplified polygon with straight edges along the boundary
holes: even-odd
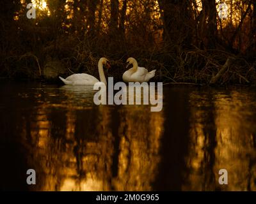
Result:
[[[202,52],[202,50],[197,51]],[[207,55],[206,57],[192,57],[196,52],[187,52],[186,55],[175,59],[175,55],[161,53],[157,59],[150,59],[145,56],[138,59],[139,66],[143,66],[151,71],[156,69],[156,76],[152,82],[163,82],[184,85],[256,85],[256,69],[253,59],[246,61],[244,57],[235,57],[234,55],[222,56],[221,59],[214,59],[216,55]],[[207,52],[205,52],[207,53]],[[202,54],[202,53],[201,53]],[[99,57],[83,56],[83,60],[73,61],[72,58],[53,59],[47,57],[47,60],[38,59],[34,55],[27,55],[25,61],[17,61],[13,64],[6,64],[0,71],[1,78],[11,78],[14,80],[37,80],[49,83],[58,83],[59,76],[65,78],[73,73],[88,73],[97,77],[99,75],[97,62]],[[127,54],[127,56],[131,56]],[[165,58],[164,58],[165,56]],[[220,55],[219,55],[220,57]],[[126,58],[113,60],[111,68],[105,71],[108,77],[114,77],[116,81],[122,81],[122,74],[127,70],[125,68]],[[189,59],[188,59],[189,58]],[[68,59],[68,60],[67,60]],[[172,59],[172,60],[170,60]]]

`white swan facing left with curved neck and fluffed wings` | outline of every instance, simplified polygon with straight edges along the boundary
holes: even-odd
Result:
[[[132,68],[123,74],[124,82],[148,82],[150,78],[155,76],[156,69],[148,72],[148,69],[138,66],[138,62],[133,57],[129,57],[126,62],[128,63],[126,68],[129,64],[132,64]]]

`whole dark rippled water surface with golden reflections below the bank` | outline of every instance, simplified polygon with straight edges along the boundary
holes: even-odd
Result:
[[[1,82],[0,94],[2,190],[256,191],[253,88],[165,86],[161,112],[96,106],[92,87]]]

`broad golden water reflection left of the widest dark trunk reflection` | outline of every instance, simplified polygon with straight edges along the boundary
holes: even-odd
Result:
[[[64,102],[40,103],[33,118],[24,122],[29,125],[23,126],[22,135],[31,137],[24,140],[31,145],[28,163],[38,177],[31,189],[152,190],[162,113],[151,113],[143,105],[83,106],[93,99],[92,91],[86,96],[84,92],[81,87],[61,87]]]

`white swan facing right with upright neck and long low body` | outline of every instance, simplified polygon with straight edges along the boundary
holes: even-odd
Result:
[[[108,59],[105,57],[100,58],[98,63],[99,75],[100,75],[100,82],[107,84],[106,77],[103,71],[103,64],[106,64],[107,68],[110,67]],[[99,82],[99,80],[92,75],[88,74],[74,74],[70,75],[67,78],[59,77],[62,82],[66,85],[94,85],[95,83]]]

